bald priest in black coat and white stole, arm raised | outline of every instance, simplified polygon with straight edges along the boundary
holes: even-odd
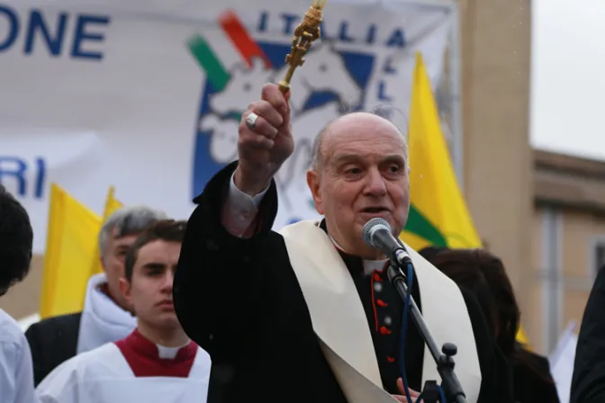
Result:
[[[292,153],[288,103],[266,85],[242,117],[239,161],[195,199],[174,298],[185,332],[211,354],[214,379],[225,375],[222,385],[211,382],[208,401],[405,402],[403,368],[415,399],[424,381],[436,379],[435,364],[412,323],[402,334],[402,300],[384,273],[385,257],[361,237],[374,217],[395,234],[405,225],[405,138],[370,113],[331,122],[307,175],[325,219],[278,234],[273,176]],[[411,293],[431,331],[441,343],[461,343],[456,373],[468,401],[512,402],[508,363],[476,300],[411,255],[418,279]],[[220,389],[224,398],[214,399]]]

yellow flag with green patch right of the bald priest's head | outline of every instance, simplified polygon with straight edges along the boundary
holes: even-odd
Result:
[[[401,238],[415,250],[426,246],[482,247],[458,187],[437,104],[420,53],[416,55],[410,118],[410,216]],[[517,339],[526,343],[523,329]]]

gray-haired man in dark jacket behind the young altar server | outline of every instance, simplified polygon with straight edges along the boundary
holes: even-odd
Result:
[[[83,311],[46,318],[25,332],[32,349],[36,385],[69,358],[131,334],[136,318],[119,290],[124,258],[143,229],[159,219],[167,219],[167,215],[134,206],[115,211],[104,222],[99,232],[104,273],[89,279]]]

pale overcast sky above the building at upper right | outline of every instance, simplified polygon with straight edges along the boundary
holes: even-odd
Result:
[[[531,143],[605,160],[605,0],[532,5]]]

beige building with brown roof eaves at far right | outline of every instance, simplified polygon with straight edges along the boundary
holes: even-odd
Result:
[[[605,264],[605,162],[537,151],[531,225],[528,333],[552,351],[564,327],[576,332]]]

